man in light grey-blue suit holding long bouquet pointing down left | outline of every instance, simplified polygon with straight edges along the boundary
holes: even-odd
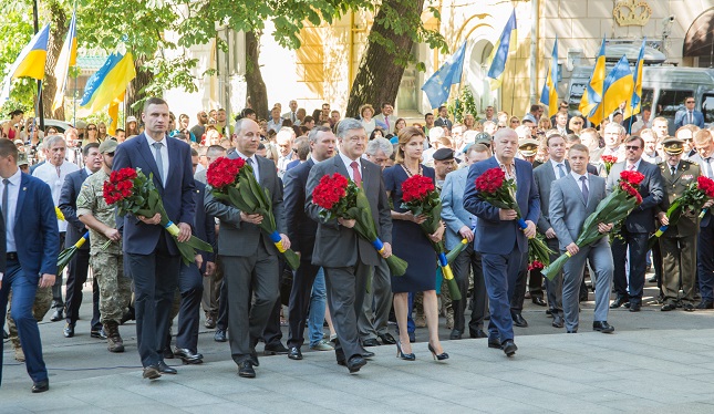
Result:
[[[588,174],[587,167],[590,156],[587,146],[575,144],[570,147],[568,157],[571,170],[565,177],[552,183],[549,211],[550,225],[560,242],[560,251],[572,255],[563,267],[562,277],[562,309],[566,330],[568,333],[578,332],[580,283],[586,260],[590,260],[597,275],[592,330],[611,333],[614,328],[608,323],[608,301],[614,265],[607,232],[612,230],[612,224],[598,224],[598,230],[602,237],[594,244],[582,248],[578,248],[576,245],[586,219],[606,197],[606,182],[602,177]]]

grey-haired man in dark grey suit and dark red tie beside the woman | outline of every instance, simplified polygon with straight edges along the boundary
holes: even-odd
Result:
[[[324,269],[330,314],[338,334],[338,364],[345,365],[352,373],[366,364],[358,332],[358,314],[362,311],[368,278],[372,267],[380,265],[380,257],[372,244],[353,230],[353,219],[320,218],[320,207],[312,204],[312,192],[320,178],[334,173],[361,184],[370,201],[377,236],[384,242],[384,258],[392,256],[392,217],[382,168],[362,158],[368,142],[362,123],[344,118],[338,126],[337,135],[340,154],[310,169],[304,208],[308,216],[318,221],[312,263]]]

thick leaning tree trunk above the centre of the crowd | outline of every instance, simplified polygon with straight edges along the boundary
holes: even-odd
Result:
[[[360,69],[348,101],[345,116],[358,116],[360,106],[372,104],[379,112],[383,102],[394,104],[399,93],[402,75],[404,74],[404,64],[395,61],[395,53],[411,53],[414,41],[408,32],[402,31],[395,33],[392,29],[386,29],[379,22],[387,19],[386,8],[400,10],[402,15],[421,15],[424,8],[424,0],[385,0],[382,2],[380,11],[374,18],[370,37],[368,38],[366,51],[360,62]],[[418,24],[418,20],[416,21]],[[413,28],[417,30],[417,27]],[[383,38],[394,43],[392,53],[383,42],[375,42],[374,38]],[[392,48],[390,48],[392,49]]]

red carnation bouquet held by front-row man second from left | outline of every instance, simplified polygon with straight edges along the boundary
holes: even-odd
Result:
[[[262,221],[258,225],[270,238],[278,251],[293,270],[300,267],[300,257],[282,246],[282,239],[276,226],[272,201],[267,188],[262,188],[246,161],[220,157],[208,166],[206,183],[210,185],[214,197],[227,201],[245,214],[259,214]]]

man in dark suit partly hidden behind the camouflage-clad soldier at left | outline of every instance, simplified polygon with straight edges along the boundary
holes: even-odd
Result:
[[[84,158],[84,168],[68,174],[64,177],[62,185],[62,193],[60,194],[60,210],[68,221],[66,236],[64,238],[64,247],[69,248],[84,236],[87,228],[76,217],[76,197],[82,189],[82,183],[90,175],[96,173],[102,168],[102,154],[100,154],[100,144],[90,143],[82,148],[82,156]],[[90,268],[90,244],[85,242],[82,246],[70,263],[68,265],[66,278],[66,293],[64,298],[64,315],[66,324],[64,325],[64,338],[74,337],[74,324],[80,319],[80,307],[82,306],[82,289],[86,282],[86,276]],[[96,284],[96,278],[92,283],[92,322],[91,335],[93,338],[101,338],[102,322],[100,321],[100,289]]]

